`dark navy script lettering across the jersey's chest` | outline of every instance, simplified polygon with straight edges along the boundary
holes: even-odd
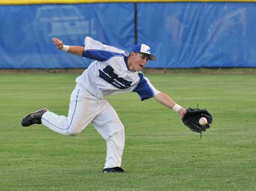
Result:
[[[130,84],[132,84],[132,81],[128,81],[124,78],[119,78],[119,76],[114,73],[114,68],[111,66],[106,66],[103,71],[100,71],[100,78],[107,81],[109,84],[112,84],[113,86],[119,88],[119,89],[126,89],[130,87]]]

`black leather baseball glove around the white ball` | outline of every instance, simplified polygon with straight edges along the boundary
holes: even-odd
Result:
[[[201,125],[199,123],[199,120],[202,117],[207,119],[207,124]],[[192,131],[200,132],[202,135],[203,131],[210,128],[210,124],[213,122],[213,117],[206,109],[188,108],[187,113],[182,118],[182,122]]]

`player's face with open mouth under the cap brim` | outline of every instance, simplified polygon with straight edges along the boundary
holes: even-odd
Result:
[[[143,69],[143,67],[145,67],[145,65],[147,65],[147,62],[148,62],[147,54],[132,52],[131,56],[132,56],[132,60],[130,63],[129,70],[140,71]]]

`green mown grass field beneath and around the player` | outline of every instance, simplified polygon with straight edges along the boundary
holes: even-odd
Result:
[[[66,115],[76,76],[0,75],[0,190],[256,190],[255,75],[147,75],[180,105],[208,108],[202,140],[153,99],[108,97],[126,129],[123,174],[101,173],[106,145],[91,125],[70,137],[20,125],[38,108]]]

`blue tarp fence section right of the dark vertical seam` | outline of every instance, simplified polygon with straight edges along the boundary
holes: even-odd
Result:
[[[152,3],[138,9],[138,41],[153,45],[161,68],[256,67],[256,4]]]

